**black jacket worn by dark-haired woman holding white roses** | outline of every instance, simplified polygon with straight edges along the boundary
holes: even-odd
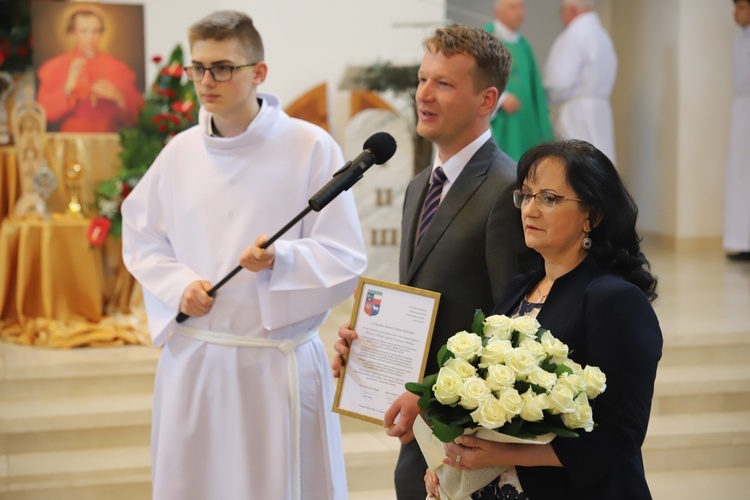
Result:
[[[515,278],[496,314],[510,314],[543,271]],[[607,389],[593,401],[597,427],[552,441],[563,467],[517,467],[533,500],[649,499],[641,457],[661,358],[659,321],[646,295],[590,259],[558,278],[537,320],[570,348],[570,358],[602,369]]]

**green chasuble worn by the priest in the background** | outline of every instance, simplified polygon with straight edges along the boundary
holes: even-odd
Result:
[[[485,29],[493,34],[495,32],[493,23],[485,26]],[[491,123],[492,135],[500,149],[518,161],[532,146],[553,139],[554,133],[531,45],[524,37],[519,37],[516,43],[502,42],[513,56],[505,91],[515,94],[521,109],[511,115],[499,109]]]

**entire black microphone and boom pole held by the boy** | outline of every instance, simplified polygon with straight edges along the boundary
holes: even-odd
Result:
[[[305,215],[311,211],[320,212],[326,205],[328,205],[334,198],[340,195],[343,191],[347,191],[350,187],[360,180],[368,168],[375,165],[382,165],[393,157],[396,152],[396,140],[393,136],[387,132],[378,132],[370,136],[362,146],[362,151],[359,156],[354,160],[347,162],[341,167],[331,179],[328,184],[323,186],[312,198],[308,200],[307,207],[297,214],[297,216],[290,220],[286,226],[282,227],[276,234],[271,236],[265,243],[260,247],[265,249],[270,247],[274,241],[279,239],[281,235],[286,233],[296,223],[298,223]],[[216,285],[213,286],[208,292],[209,297],[213,297],[214,294],[224,286],[224,284],[232,279],[235,274],[242,270],[242,266],[235,267],[229,274],[224,276]],[[190,316],[180,312],[175,320],[178,323],[182,323]]]

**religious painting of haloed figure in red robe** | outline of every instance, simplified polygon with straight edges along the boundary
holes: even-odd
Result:
[[[132,127],[143,108],[143,5],[32,4],[37,101],[51,132]]]

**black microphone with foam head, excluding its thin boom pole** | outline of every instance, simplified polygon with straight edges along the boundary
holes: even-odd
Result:
[[[396,152],[396,139],[387,132],[378,132],[365,141],[362,149],[364,151],[359,156],[341,167],[333,174],[333,179],[310,198],[310,208],[320,212],[334,198],[360,180],[373,164],[382,165],[390,160]]]

